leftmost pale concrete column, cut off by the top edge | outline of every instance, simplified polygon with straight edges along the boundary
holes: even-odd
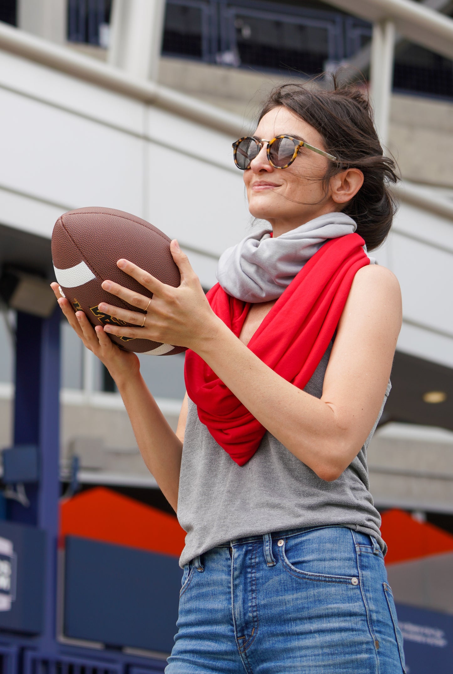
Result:
[[[18,27],[46,40],[66,42],[67,0],[18,0]]]

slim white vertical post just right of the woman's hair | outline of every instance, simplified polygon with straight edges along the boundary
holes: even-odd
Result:
[[[390,96],[393,84],[395,25],[390,20],[373,26],[371,48],[371,93],[374,102],[374,121],[381,142],[388,140]]]

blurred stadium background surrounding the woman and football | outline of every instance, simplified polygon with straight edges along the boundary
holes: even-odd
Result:
[[[407,671],[453,670],[452,16],[450,0],[0,0],[0,674],[163,671],[176,632],[184,532],[55,308],[55,220],[141,216],[209,289],[251,225],[232,141],[276,83],[338,69],[370,88],[403,178],[374,253],[404,319],[371,491]],[[173,427],[183,367],[141,357]]]

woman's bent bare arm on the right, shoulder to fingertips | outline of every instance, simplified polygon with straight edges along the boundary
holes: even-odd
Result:
[[[146,328],[104,326],[195,350],[248,410],[319,477],[337,479],[359,452],[376,421],[401,324],[396,278],[382,267],[357,272],[330,357],[322,398],[295,388],[260,361],[211,311],[186,255],[172,243],[182,282],[170,288],[127,261],[118,266],[154,293]],[[143,308],[147,298],[108,282],[114,295]],[[129,293],[129,294],[128,294]],[[102,305],[129,323],[141,314]],[[142,332],[143,330],[143,332]]]

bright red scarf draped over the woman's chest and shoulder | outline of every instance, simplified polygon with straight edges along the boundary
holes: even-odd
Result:
[[[333,338],[355,273],[370,264],[364,243],[358,234],[325,243],[293,278],[248,342],[248,348],[263,363],[300,389],[312,377]],[[227,295],[218,283],[207,299],[217,316],[239,336],[250,303]],[[265,427],[192,350],[186,351],[184,376],[201,423],[243,466],[258,449]]]

